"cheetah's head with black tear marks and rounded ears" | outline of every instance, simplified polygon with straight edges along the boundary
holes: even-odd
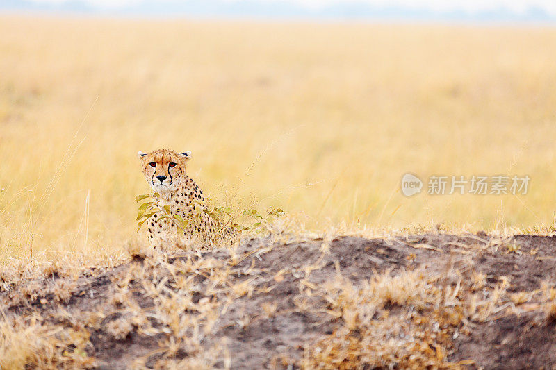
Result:
[[[158,149],[151,153],[137,153],[147,183],[160,194],[174,192],[175,186],[186,176],[186,163],[191,158],[190,151],[176,153],[168,149]]]

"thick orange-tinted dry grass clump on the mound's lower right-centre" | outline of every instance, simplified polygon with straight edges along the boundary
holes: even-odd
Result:
[[[464,316],[461,302],[443,302],[443,292],[431,284],[434,280],[422,271],[383,274],[357,288],[338,278],[327,287],[326,297],[343,326],[308,348],[304,369],[354,369],[361,364],[448,367],[445,347],[450,326],[458,326]],[[404,312],[389,317],[392,305]],[[431,332],[435,326],[438,329]]]

